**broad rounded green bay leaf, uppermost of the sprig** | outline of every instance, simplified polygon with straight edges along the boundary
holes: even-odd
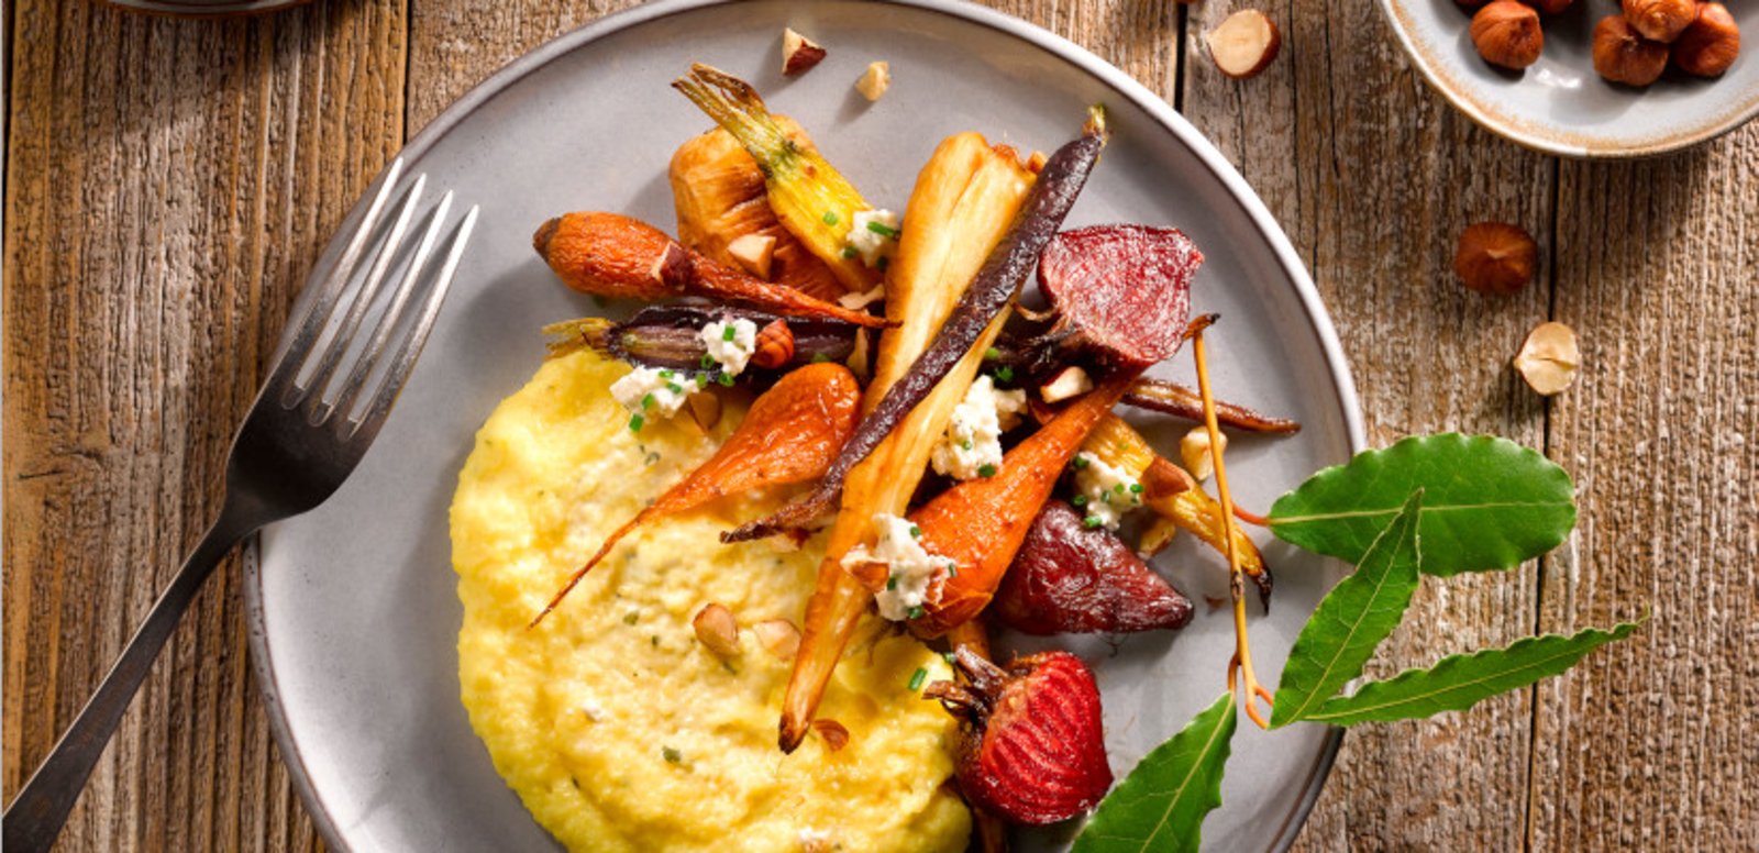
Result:
[[[1555,463],[1504,438],[1444,433],[1309,477],[1277,498],[1270,529],[1358,563],[1416,489],[1427,575],[1513,568],[1555,549],[1576,526],[1576,485]]]

